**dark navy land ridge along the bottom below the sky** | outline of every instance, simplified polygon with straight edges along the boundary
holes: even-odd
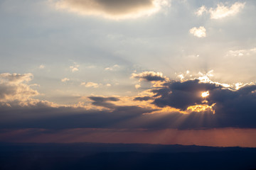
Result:
[[[4,169],[256,169],[256,148],[146,144],[0,143]]]

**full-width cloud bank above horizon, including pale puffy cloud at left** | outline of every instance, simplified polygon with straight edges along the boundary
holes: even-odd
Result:
[[[142,72],[132,77],[153,86],[140,96],[89,96],[81,98],[89,104],[60,106],[33,99],[38,92],[26,84],[32,74],[0,77],[0,128],[256,128],[255,84],[230,89],[205,79],[171,81]]]

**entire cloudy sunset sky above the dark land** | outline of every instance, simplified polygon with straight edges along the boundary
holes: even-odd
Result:
[[[256,147],[256,1],[0,1],[1,142]]]

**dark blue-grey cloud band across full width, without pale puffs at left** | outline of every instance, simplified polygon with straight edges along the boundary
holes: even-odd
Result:
[[[153,103],[157,107],[117,105],[121,98],[89,96],[96,108],[50,106],[38,102],[31,106],[0,106],[0,128],[256,128],[255,85],[239,90],[218,84],[201,83],[198,79],[166,81],[154,88],[152,96],[134,98],[134,101]],[[203,98],[201,93],[208,91]],[[190,106],[212,106],[208,110],[183,114]],[[176,108],[176,109],[166,109]],[[194,107],[194,109],[196,109]],[[36,114],[35,114],[36,113]],[[154,114],[152,114],[154,113]]]

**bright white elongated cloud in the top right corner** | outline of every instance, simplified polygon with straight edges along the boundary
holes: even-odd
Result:
[[[225,6],[224,4],[220,3],[217,5],[217,8],[210,9],[207,9],[206,6],[201,6],[201,8],[198,8],[198,10],[196,11],[196,15],[201,16],[204,12],[206,12],[210,13],[211,19],[220,19],[228,16],[235,16],[235,14],[239,13],[244,7],[245,2],[236,2],[231,6]]]

